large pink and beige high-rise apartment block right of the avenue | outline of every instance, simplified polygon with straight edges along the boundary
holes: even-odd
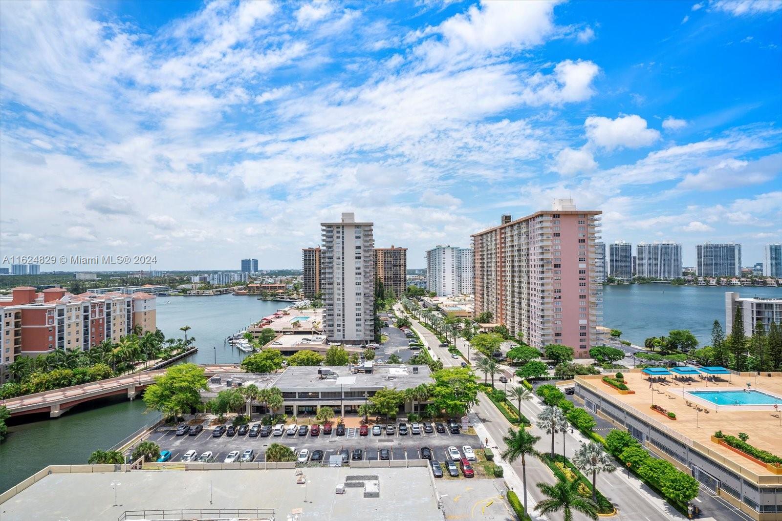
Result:
[[[475,314],[491,312],[536,348],[566,344],[587,358],[602,319],[600,214],[558,199],[551,210],[503,216],[500,226],[474,234]]]

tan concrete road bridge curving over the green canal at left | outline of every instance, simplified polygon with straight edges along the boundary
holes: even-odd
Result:
[[[203,365],[201,366],[206,376],[217,373],[235,373],[239,370],[238,364]],[[27,394],[17,398],[10,398],[0,405],[5,405],[11,416],[48,412],[52,418],[57,418],[74,405],[84,401],[105,398],[115,394],[127,394],[131,400],[138,396],[145,387],[155,383],[155,377],[166,372],[166,369],[154,371],[142,371],[142,373],[116,376],[107,380],[99,380],[89,384],[61,387],[52,391]]]

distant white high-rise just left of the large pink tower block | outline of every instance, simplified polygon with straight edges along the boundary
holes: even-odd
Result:
[[[472,248],[438,244],[426,252],[426,287],[438,297],[470,294],[475,291],[475,261]]]

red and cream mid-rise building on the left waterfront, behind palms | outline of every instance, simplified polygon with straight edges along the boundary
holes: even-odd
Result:
[[[62,287],[14,287],[11,298],[0,300],[0,384],[16,356],[87,351],[106,339],[120,341],[137,324],[143,332],[156,330],[155,302],[155,295],[142,292],[74,295]]]

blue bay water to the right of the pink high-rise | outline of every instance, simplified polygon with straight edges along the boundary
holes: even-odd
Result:
[[[725,328],[726,291],[742,297],[782,298],[782,287],[604,286],[603,323],[622,330],[622,338],[636,345],[677,329],[691,330],[701,345],[711,344],[714,320]]]

